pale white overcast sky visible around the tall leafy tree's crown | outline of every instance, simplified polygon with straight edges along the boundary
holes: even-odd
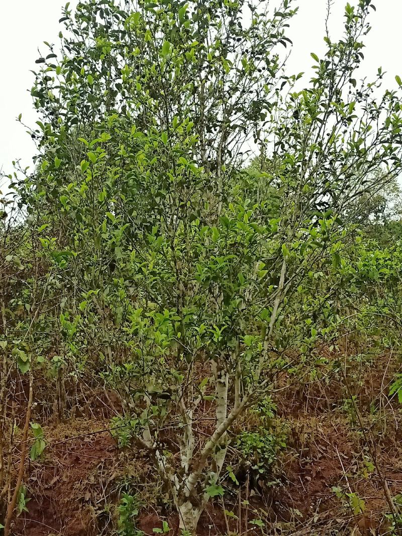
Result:
[[[70,4],[76,3],[73,0]],[[20,158],[24,165],[32,163],[33,142],[16,122],[16,117],[23,114],[24,122],[31,125],[37,120],[27,92],[33,84],[30,70],[35,69],[38,47],[43,41],[58,42],[57,35],[62,29],[58,19],[64,4],[62,0],[0,0],[0,169],[4,172],[11,172],[13,159]],[[330,24],[333,37],[342,31],[345,4],[345,0],[334,0]],[[371,16],[373,29],[367,37],[366,60],[360,75],[374,75],[382,66],[388,72],[385,84],[396,88],[394,77],[402,76],[402,0],[377,0],[375,4],[377,11]],[[308,72],[312,64],[310,53],[320,55],[324,49],[326,0],[299,0],[299,6],[299,13],[289,29],[294,43],[288,63],[290,72]]]

